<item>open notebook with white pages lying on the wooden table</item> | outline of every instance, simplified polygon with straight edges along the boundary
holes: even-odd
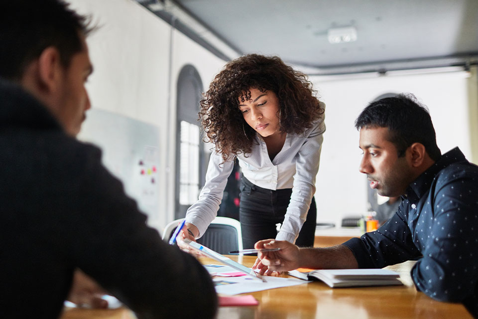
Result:
[[[403,285],[400,275],[387,269],[319,269],[309,273],[290,271],[289,275],[304,280],[321,280],[332,288]]]

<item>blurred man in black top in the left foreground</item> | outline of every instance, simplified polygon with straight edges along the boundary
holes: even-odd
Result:
[[[75,139],[89,31],[60,0],[0,3],[0,317],[59,317],[80,269],[139,318],[213,318],[208,272]]]

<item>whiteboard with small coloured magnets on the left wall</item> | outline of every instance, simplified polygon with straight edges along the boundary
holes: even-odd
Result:
[[[93,143],[103,152],[103,164],[118,177],[126,194],[155,223],[159,216],[159,129],[104,110],[87,113],[78,139]]]

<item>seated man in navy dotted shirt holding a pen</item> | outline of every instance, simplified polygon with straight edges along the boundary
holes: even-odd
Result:
[[[411,271],[417,290],[463,302],[478,316],[478,166],[458,148],[441,155],[430,115],[413,96],[371,103],[356,127],[363,151],[359,170],[380,195],[401,195],[395,215],[377,231],[329,248],[259,241],[255,248],[282,248],[259,253],[261,273],[382,268],[419,258]]]

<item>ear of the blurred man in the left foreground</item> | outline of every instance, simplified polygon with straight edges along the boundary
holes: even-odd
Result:
[[[52,93],[58,90],[61,84],[62,64],[60,52],[50,46],[41,52],[38,57],[38,85],[43,93]]]

